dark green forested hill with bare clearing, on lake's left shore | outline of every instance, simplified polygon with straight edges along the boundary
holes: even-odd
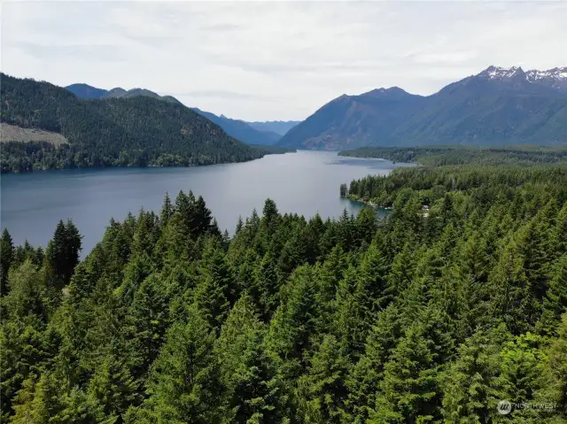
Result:
[[[1,75],[0,120],[66,137],[68,144],[2,144],[2,172],[79,166],[191,166],[260,158],[221,127],[150,96],[80,100],[48,82]]]

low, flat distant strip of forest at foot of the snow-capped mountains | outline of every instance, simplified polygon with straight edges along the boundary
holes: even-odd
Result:
[[[567,163],[567,148],[562,147],[361,147],[345,150],[339,156],[383,158],[392,162],[416,162],[426,166],[445,165],[542,165]]]

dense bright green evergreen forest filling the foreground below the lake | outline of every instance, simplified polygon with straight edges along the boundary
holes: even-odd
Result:
[[[567,167],[398,168],[350,192],[392,213],[268,199],[230,238],[181,192],[83,261],[72,222],[45,251],[4,232],[2,421],[566,422]]]

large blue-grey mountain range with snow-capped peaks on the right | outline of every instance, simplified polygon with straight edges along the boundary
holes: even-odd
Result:
[[[567,67],[489,66],[431,96],[398,87],[339,96],[283,135],[295,149],[567,143]]]

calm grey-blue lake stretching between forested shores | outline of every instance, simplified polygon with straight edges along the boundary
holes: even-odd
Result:
[[[339,197],[339,185],[369,173],[387,174],[396,166],[387,160],[343,158],[337,152],[300,150],[269,155],[240,164],[185,168],[104,168],[40,171],[1,176],[1,227],[14,243],[25,240],[45,246],[58,220],[72,219],[83,235],[83,256],[100,241],[111,218],[124,220],[140,208],[159,212],[169,192],[193,190],[221,229],[234,232],[238,216],[261,213],[272,198],[280,212],[323,219],[338,217],[361,204]]]

